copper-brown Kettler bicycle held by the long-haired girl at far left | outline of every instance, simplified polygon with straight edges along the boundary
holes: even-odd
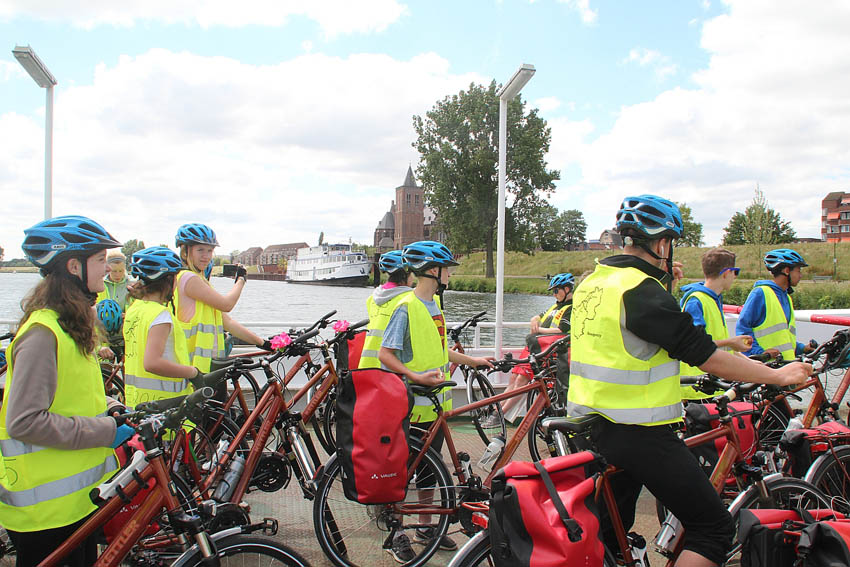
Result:
[[[120,535],[100,553],[96,567],[117,566],[128,557],[146,565],[157,564],[159,560],[166,558],[169,564],[175,566],[221,565],[229,561],[222,561],[224,558],[240,556],[240,559],[244,559],[244,556],[249,554],[271,558],[291,567],[306,566],[306,561],[287,547],[270,539],[248,536],[254,531],[268,530],[266,523],[215,534],[208,533],[204,530],[200,517],[186,512],[173,492],[165,453],[160,446],[162,432],[167,428],[180,428],[183,420],[193,413],[204,399],[213,394],[212,388],[203,388],[187,396],[178,408],[162,414],[130,414],[128,417],[131,419],[141,417],[135,428],[141,437],[144,451],[135,451],[126,468],[92,490],[92,501],[98,504],[99,509],[44,559],[39,567],[61,564],[63,558],[101,529],[125,502],[143,488],[150,489],[147,497],[132,513]],[[151,486],[150,481],[155,483]],[[206,504],[202,503],[201,506]],[[135,557],[134,546],[145,535],[151,521],[161,515],[167,517],[173,535],[163,537],[163,547],[160,551],[148,547],[139,552],[141,556]]]

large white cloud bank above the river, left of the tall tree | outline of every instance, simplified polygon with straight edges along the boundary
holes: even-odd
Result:
[[[193,220],[227,250],[320,230],[371,241],[417,161],[412,116],[471,81],[486,78],[452,74],[434,54],[267,66],[163,49],[121,57],[57,93],[54,212],[147,243]],[[0,242],[15,242],[41,215],[43,122],[4,114],[0,131],[16,132],[0,137],[0,216],[18,219]]]

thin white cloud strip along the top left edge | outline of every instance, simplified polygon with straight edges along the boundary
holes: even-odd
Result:
[[[283,26],[293,17],[315,21],[326,37],[383,31],[407,12],[397,0],[5,0],[0,19],[28,16],[70,21],[83,28],[133,26],[137,22],[243,27]]]

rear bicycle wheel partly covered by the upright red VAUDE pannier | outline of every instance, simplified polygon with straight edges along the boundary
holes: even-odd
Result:
[[[421,445],[412,442],[411,462],[420,452]],[[406,537],[413,541],[417,529],[427,529],[434,537],[414,544],[412,559],[404,563],[406,567],[424,565],[437,551],[455,507],[449,473],[433,449],[428,449],[419,470],[408,480],[404,504],[427,504],[440,513],[398,512],[392,504],[364,505],[348,500],[342,487],[342,464],[336,456],[331,457],[321,474],[313,503],[313,529],[322,551],[334,565],[395,567],[394,539]]]

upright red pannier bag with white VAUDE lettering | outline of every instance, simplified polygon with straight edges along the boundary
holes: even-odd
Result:
[[[360,504],[404,500],[412,408],[413,396],[397,374],[364,368],[340,378],[336,450],[346,498]]]

